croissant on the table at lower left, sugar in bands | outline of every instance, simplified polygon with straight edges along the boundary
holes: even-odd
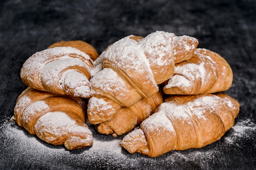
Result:
[[[85,124],[86,103],[81,98],[27,87],[17,99],[14,120],[43,141],[64,144],[69,150],[91,146],[92,133]]]

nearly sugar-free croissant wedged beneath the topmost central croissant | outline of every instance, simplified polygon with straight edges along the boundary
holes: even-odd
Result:
[[[163,98],[160,92],[149,98],[142,98],[130,107],[121,107],[111,120],[98,124],[96,129],[99,133],[112,134],[115,137],[123,135],[153,114],[162,102]]]

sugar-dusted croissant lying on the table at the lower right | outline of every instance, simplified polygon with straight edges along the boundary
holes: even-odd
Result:
[[[171,150],[202,148],[234,125],[240,104],[227,94],[171,96],[121,141],[130,153],[157,157]]]

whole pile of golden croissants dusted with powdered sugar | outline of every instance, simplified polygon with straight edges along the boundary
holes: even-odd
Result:
[[[233,81],[227,61],[197,47],[194,37],[164,31],[129,35],[100,55],[84,41],[57,42],[22,65],[28,87],[13,120],[69,150],[93,144],[86,123],[114,137],[127,133],[121,146],[130,153],[202,148],[234,125],[240,104],[218,93]]]

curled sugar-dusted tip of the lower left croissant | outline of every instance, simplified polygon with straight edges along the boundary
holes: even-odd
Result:
[[[92,146],[92,142],[93,139],[90,136],[88,136],[88,138],[86,139],[81,139],[81,137],[72,136],[66,140],[64,145],[68,150],[74,150]]]

